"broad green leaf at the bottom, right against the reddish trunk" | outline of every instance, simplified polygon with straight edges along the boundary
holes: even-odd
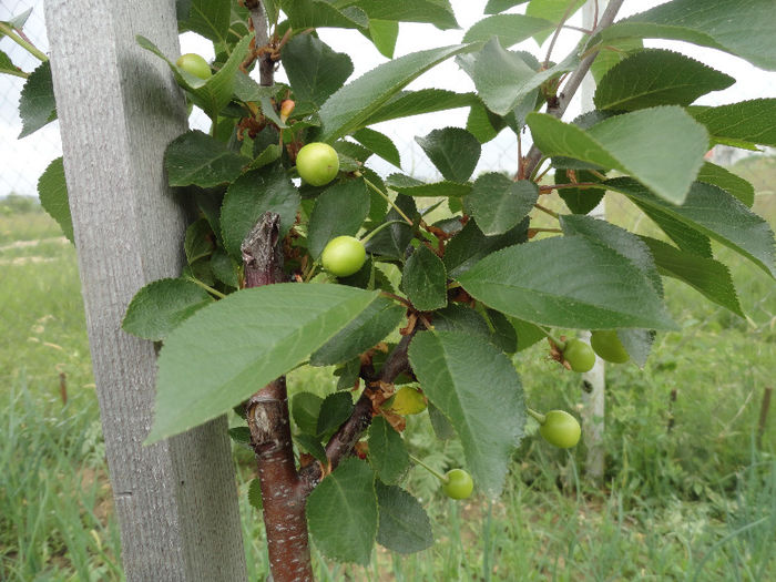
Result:
[[[345,459],[307,498],[315,545],[339,562],[368,564],[377,535],[375,473],[366,462]]]

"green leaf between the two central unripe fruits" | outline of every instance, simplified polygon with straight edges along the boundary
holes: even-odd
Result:
[[[354,236],[369,213],[369,193],[363,180],[335,184],[315,201],[307,232],[307,248],[317,259],[336,236]]]

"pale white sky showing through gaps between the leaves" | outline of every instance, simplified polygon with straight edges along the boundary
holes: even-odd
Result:
[[[461,41],[463,33],[474,22],[482,18],[484,0],[451,0],[456,18],[461,25],[460,30],[440,31],[430,24],[402,23],[395,57],[410,52],[456,44]],[[664,3],[663,0],[625,0],[619,18],[636,12],[642,12],[654,6]],[[600,0],[603,7],[604,1]],[[32,7],[32,14],[25,27],[25,33],[43,51],[48,50],[45,28],[43,22],[42,0],[2,0],[0,2],[0,20],[6,20]],[[523,7],[524,8],[524,7]],[[521,7],[512,9],[520,12]],[[578,13],[569,22],[572,25],[582,25],[582,14]],[[341,29],[321,29],[320,38],[338,52],[347,52],[354,61],[354,74],[350,79],[360,76],[366,71],[386,62],[386,58],[379,54],[375,47],[360,33]],[[576,44],[580,33],[564,31],[553,51],[554,59],[565,57]],[[538,55],[544,55],[549,41],[541,48],[533,40],[528,40],[512,50],[528,50]],[[737,82],[724,91],[717,91],[704,95],[697,103],[706,105],[719,105],[755,98],[776,96],[776,72],[762,71],[746,61],[727,53],[703,49],[683,42],[647,40],[647,47],[667,48],[683,52],[694,59],[734,76]],[[0,39],[0,50],[9,53],[13,61],[22,69],[32,70],[37,61],[27,55],[8,38]],[[185,33],[181,37],[181,52],[197,52],[211,59],[213,57],[212,44],[194,33]],[[283,79],[280,74],[279,80]],[[19,92],[23,80],[0,75],[0,196],[16,191],[21,194],[34,194],[38,176],[43,172],[51,160],[61,155],[59,142],[59,125],[57,122],[49,124],[43,130],[17,140],[21,131],[21,122],[17,108]],[[432,69],[413,81],[409,89],[437,86],[457,92],[473,90],[470,79],[458,69],[453,61],[448,61]],[[583,110],[584,103],[580,96],[572,103],[566,120],[573,119]],[[588,109],[585,106],[584,109]],[[401,153],[402,171],[408,174],[422,177],[433,177],[436,171],[430,165],[425,154],[415,143],[415,136],[422,136],[433,129],[445,126],[464,126],[468,109],[452,110],[441,113],[432,113],[409,118],[408,120],[391,121],[375,125],[394,139]],[[204,114],[196,114],[192,119],[192,126],[207,130],[207,121]],[[398,169],[382,162],[379,159],[370,160],[368,165],[380,174],[388,174]],[[480,164],[477,172],[513,170],[517,165],[517,140],[514,134],[504,130],[496,140],[483,146]]]

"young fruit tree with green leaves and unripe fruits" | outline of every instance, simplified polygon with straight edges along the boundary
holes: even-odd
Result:
[[[735,79],[642,42],[682,40],[776,70],[772,0],[672,0],[624,20],[612,0],[558,55],[582,3],[490,0],[460,44],[398,58],[400,22],[458,27],[447,0],[177,2],[180,29],[213,41],[212,63],[137,37],[212,122],[164,154],[170,185],[197,208],[187,265],[139,289],[123,320],[163,343],[146,443],[238,411],[245,425],[229,435],[255,451],[251,502],[276,582],[313,579],[309,537],[326,557],[361,564],[375,543],[402,553],[433,543],[422,504],[401,487],[409,467],[425,466],[408,450],[408,415],[460,439],[459,467],[429,468],[445,494],[494,498],[527,413],[554,446],[580,438],[568,412],[528,408],[531,380],[511,355],[545,338],[570,374],[596,354],[643,366],[655,334],[676,327],[663,277],[743,316],[712,242],[776,275],[752,185],[704,159],[714,144],[776,146],[776,99],[693,105]],[[357,30],[389,60],[350,79],[350,58],[321,28]],[[512,50],[531,38],[550,40],[545,53]],[[406,89],[448,60],[473,92]],[[589,73],[595,110],[562,121]],[[30,74],[22,115],[48,75],[47,63]],[[416,139],[439,181],[401,173],[398,149],[371,127],[459,108],[464,127]],[[25,127],[52,112],[53,100]],[[482,144],[502,131],[515,142],[512,173],[473,175]],[[378,175],[375,157],[397,171]],[[41,182],[41,200],[67,224],[57,176]],[[562,212],[542,201],[555,192]],[[605,193],[665,236],[586,216]],[[573,330],[592,330],[592,348]],[[303,366],[333,367],[337,390],[288,398],[285,375]]]

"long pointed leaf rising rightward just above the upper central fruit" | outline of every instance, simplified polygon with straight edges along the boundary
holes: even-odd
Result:
[[[469,50],[468,45],[457,44],[413,52],[380,64],[351,81],[333,94],[320,108],[323,125],[320,140],[331,142],[364,126],[380,106],[410,81],[450,57],[467,50]]]

